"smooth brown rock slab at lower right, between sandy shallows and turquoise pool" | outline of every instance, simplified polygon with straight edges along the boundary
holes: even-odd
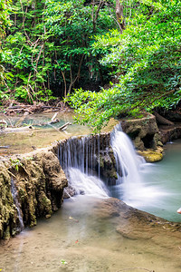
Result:
[[[175,232],[180,237],[181,223],[169,222],[145,211],[134,209],[119,199],[101,200],[94,208],[94,216],[99,219],[112,219],[116,231],[124,238],[148,240],[154,239],[157,233],[159,236],[163,233],[164,237],[166,232]]]

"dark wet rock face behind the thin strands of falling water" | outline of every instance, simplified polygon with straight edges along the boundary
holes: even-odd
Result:
[[[110,147],[110,132],[90,137],[72,137],[61,141],[60,146],[60,163],[63,169],[74,167],[76,161],[79,169],[84,169],[90,175],[100,176],[109,184],[116,183],[118,177],[116,160]]]

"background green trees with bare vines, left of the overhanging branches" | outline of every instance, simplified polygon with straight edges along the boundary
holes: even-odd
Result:
[[[112,8],[105,6],[93,27],[97,6],[84,0],[15,0],[14,23],[3,43],[7,73],[0,98],[46,101],[53,98],[52,91],[66,96],[81,77],[99,77],[98,55],[105,50],[91,44],[94,34],[106,34],[115,22]]]

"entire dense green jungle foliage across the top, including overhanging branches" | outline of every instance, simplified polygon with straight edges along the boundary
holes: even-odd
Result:
[[[95,131],[180,102],[179,0],[0,0],[0,9],[2,102],[65,97]]]

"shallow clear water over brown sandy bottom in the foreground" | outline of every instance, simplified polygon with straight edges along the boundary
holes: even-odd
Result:
[[[39,220],[1,246],[2,271],[180,271],[176,233],[151,228],[148,238],[126,238],[116,230],[119,217],[101,210],[102,201],[86,196],[65,200],[51,219]],[[131,228],[145,231],[141,224]]]

